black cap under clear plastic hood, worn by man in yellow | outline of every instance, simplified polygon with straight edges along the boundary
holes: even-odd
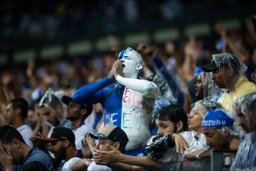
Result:
[[[212,58],[216,60],[218,59],[219,67],[216,65],[214,60],[211,61],[210,64],[202,66],[204,72],[211,72],[212,69],[217,69],[220,67],[231,67],[239,71],[239,57],[232,53],[220,53],[212,55]],[[229,61],[229,62],[228,62]]]

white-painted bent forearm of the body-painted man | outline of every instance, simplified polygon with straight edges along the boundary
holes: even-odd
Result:
[[[148,98],[155,98],[158,92],[157,85],[147,80],[125,78],[121,77],[120,75],[116,76],[116,80],[120,84],[130,88],[133,91],[140,92]]]

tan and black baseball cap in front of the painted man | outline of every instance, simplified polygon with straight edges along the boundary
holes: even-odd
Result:
[[[99,133],[90,132],[90,136],[94,139],[100,137],[110,139],[115,143],[119,142],[122,147],[125,147],[129,141],[124,130],[113,124],[105,125]]]

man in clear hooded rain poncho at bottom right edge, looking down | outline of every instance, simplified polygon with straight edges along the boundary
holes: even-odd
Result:
[[[233,104],[236,121],[244,129],[231,170],[256,170],[256,93],[246,94]],[[236,120],[236,118],[235,118]]]

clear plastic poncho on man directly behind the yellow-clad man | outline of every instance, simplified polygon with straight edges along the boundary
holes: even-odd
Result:
[[[203,82],[203,100],[217,101],[224,90],[213,83],[212,72],[201,72],[200,75]]]

